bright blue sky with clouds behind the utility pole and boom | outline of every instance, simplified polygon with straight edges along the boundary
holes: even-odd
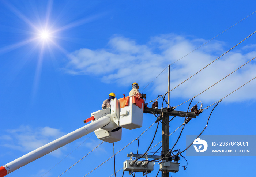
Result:
[[[172,89],[255,32],[256,13],[252,14],[255,11],[255,2],[251,0],[0,0],[1,164],[82,127],[83,120],[101,109],[110,92],[116,93],[117,98],[123,97],[123,93],[128,95],[133,82],[138,82],[140,91],[143,89],[147,94],[146,102],[165,94],[168,64],[180,59],[171,65]],[[48,37],[42,37],[42,33],[48,33]],[[191,99],[255,57],[255,35],[171,91],[171,105]],[[206,108],[255,76],[252,60],[200,94],[192,104],[202,101]],[[252,80],[223,99],[203,134],[255,135],[255,86],[256,81]],[[176,110],[186,111],[188,105],[184,103]],[[176,149],[185,149],[185,135],[197,135],[203,130],[212,107],[185,126]],[[153,115],[144,114],[142,128],[123,129],[122,140],[115,143],[116,152],[154,121]],[[174,118],[170,132],[183,121],[183,118]],[[153,125],[139,138],[140,154],[146,151],[155,128]],[[170,147],[180,130],[170,136]],[[160,141],[161,128],[153,146]],[[42,176],[80,145],[44,175],[59,176],[100,143],[91,133],[8,176]],[[117,170],[128,159],[127,153],[136,152],[137,145],[135,141],[116,155]],[[61,176],[83,177],[112,155],[113,145],[104,142]],[[173,176],[254,174],[253,156],[185,157],[187,170],[180,167]],[[180,163],[186,165],[184,159]],[[158,169],[159,165],[155,164],[148,176],[156,176]],[[113,158],[87,176],[99,174],[113,174]],[[117,176],[121,174],[120,171]],[[128,172],[124,176],[128,176]],[[136,176],[142,174],[136,173]]]

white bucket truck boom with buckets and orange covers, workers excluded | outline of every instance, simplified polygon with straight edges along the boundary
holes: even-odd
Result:
[[[87,123],[92,120],[90,124],[1,166],[0,177],[4,177],[20,167],[93,131],[98,139],[109,143],[121,140],[122,129],[118,129],[118,127],[130,130],[142,127],[143,101],[143,99],[135,96],[127,96],[119,100],[116,98],[112,99],[111,107],[91,113],[91,117],[84,121]]]

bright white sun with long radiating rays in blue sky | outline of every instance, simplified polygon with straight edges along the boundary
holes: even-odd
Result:
[[[35,101],[35,97],[37,95],[37,91],[40,85],[40,78],[42,74],[42,64],[44,62],[45,57],[45,50],[48,50],[50,55],[53,57],[55,55],[55,49],[59,50],[60,53],[63,53],[66,57],[69,57],[69,52],[65,50],[60,44],[58,39],[66,39],[67,36],[61,37],[58,35],[59,32],[68,30],[74,27],[78,27],[80,25],[84,25],[86,23],[90,23],[92,21],[95,21],[102,16],[104,16],[106,13],[91,15],[86,18],[82,18],[79,20],[76,20],[74,22],[71,22],[67,25],[63,25],[61,27],[57,27],[57,23],[62,20],[62,16],[58,16],[55,21],[52,21],[51,15],[52,15],[52,7],[53,7],[53,0],[48,0],[46,5],[46,11],[45,11],[45,19],[44,23],[42,20],[42,16],[40,16],[39,8],[37,8],[36,4],[32,4],[32,10],[34,12],[35,20],[38,21],[37,23],[33,22],[32,19],[27,17],[25,14],[23,14],[21,11],[19,11],[16,7],[14,7],[11,3],[8,1],[4,1],[4,5],[13,13],[16,15],[17,18],[25,22],[24,24],[27,24],[26,30],[20,29],[25,31],[26,33],[23,34],[31,34],[33,37],[17,42],[16,44],[12,44],[9,46],[5,46],[3,48],[0,48],[0,54],[4,52],[9,52],[10,50],[14,50],[20,47],[23,47],[25,45],[33,44],[33,42],[36,45],[31,45],[31,49],[39,48],[39,53],[37,57],[37,64],[35,66],[35,74],[34,74],[34,81],[32,84],[32,95],[31,95],[31,101]],[[68,8],[68,6],[67,6]],[[54,46],[54,47],[52,47]],[[54,49],[55,48],[55,49]],[[30,49],[30,50],[31,50]],[[34,50],[33,50],[34,51]],[[32,54],[33,52],[31,52]],[[54,57],[55,58],[55,57]],[[25,60],[24,60],[25,61]],[[56,62],[57,63],[57,62]]]

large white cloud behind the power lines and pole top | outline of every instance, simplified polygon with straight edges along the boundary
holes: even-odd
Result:
[[[71,74],[101,77],[102,82],[106,83],[114,82],[130,86],[132,82],[138,82],[140,88],[143,89],[168,64],[184,57],[205,42],[204,39],[169,34],[152,37],[147,44],[138,44],[132,39],[114,36],[110,39],[106,49],[80,49],[69,54],[70,61],[65,69]],[[172,97],[190,99],[201,93],[255,57],[255,46],[255,44],[239,46],[240,48],[231,50],[199,74],[174,89],[171,92]],[[171,89],[217,59],[229,49],[226,48],[224,42],[212,40],[171,65]],[[255,62],[252,61],[199,95],[198,99],[201,101],[218,101],[255,76]],[[225,98],[225,101],[255,100],[255,86],[256,81],[253,80],[246,87],[244,86]],[[144,90],[145,93],[147,91],[157,93],[155,95],[166,93],[167,69],[154,80],[150,87]]]

